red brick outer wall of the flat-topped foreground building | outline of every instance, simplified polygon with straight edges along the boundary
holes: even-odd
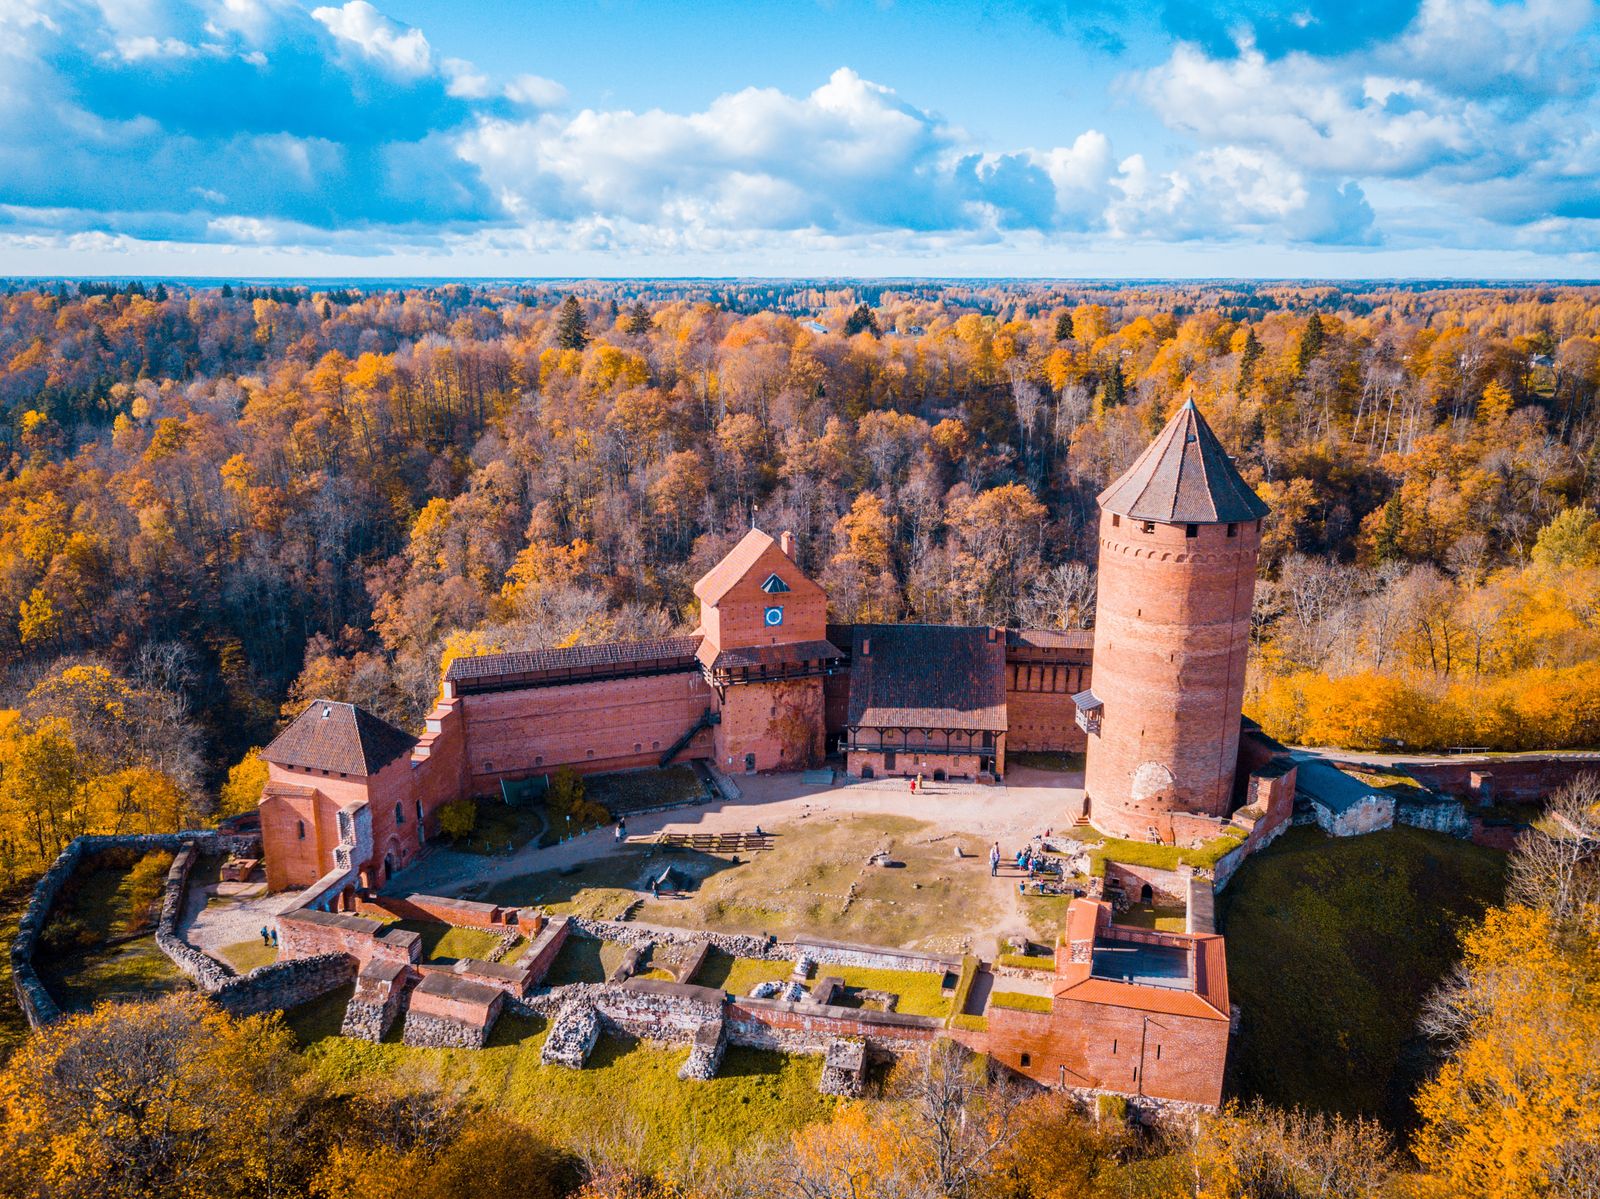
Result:
[[[1227,1021],[1072,999],[1058,999],[1051,1013],[990,1005],[982,1049],[1046,1087],[1094,1087],[1214,1106],[1222,1100]]]

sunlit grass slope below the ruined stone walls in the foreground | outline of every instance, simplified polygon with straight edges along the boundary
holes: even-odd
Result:
[[[826,1119],[822,1060],[730,1049],[718,1076],[680,1082],[686,1045],[606,1036],[581,1071],[539,1065],[546,1023],[502,1017],[486,1049],[406,1049],[338,1037],[349,989],[290,1013],[306,1057],[326,1077],[358,1089],[395,1076],[461,1093],[573,1148],[637,1143],[659,1164],[726,1162],[760,1153]]]

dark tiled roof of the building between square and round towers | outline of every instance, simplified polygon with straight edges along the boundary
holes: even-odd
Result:
[[[853,727],[1006,728],[1005,637],[986,628],[858,624],[850,661]]]

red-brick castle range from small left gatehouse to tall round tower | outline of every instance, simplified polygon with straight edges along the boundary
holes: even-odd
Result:
[[[1099,496],[1088,631],[830,624],[792,538],[752,528],[699,583],[685,637],[461,658],[421,738],[312,703],[262,751],[270,888],[354,904],[502,781],[706,759],[859,778],[998,781],[1008,751],[1086,751],[1099,829],[1173,840],[1226,816],[1266,504],[1186,403]]]

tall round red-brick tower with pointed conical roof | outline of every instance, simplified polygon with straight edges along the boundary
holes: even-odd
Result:
[[[1189,402],[1099,507],[1088,816],[1170,842],[1174,813],[1229,810],[1267,506]]]

